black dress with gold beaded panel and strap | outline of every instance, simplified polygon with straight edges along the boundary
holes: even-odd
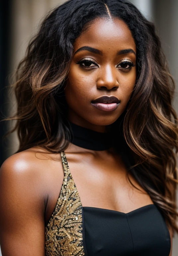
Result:
[[[46,256],[169,256],[169,231],[156,205],[129,213],[83,207],[65,152],[61,159],[64,179],[45,227]]]

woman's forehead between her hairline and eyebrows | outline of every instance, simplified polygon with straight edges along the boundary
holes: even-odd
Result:
[[[118,19],[97,18],[74,42],[74,51],[82,46],[91,46],[102,51],[133,49],[134,38],[127,24]]]

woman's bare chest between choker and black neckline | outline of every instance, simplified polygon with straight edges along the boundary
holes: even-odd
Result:
[[[66,156],[82,206],[127,213],[153,203],[132,175],[128,176],[121,157],[67,153]],[[59,187],[58,181],[59,177],[55,176],[46,208],[46,220],[51,216],[59,196],[59,190],[55,189]]]

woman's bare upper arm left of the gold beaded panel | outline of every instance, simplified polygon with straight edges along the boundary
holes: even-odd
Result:
[[[38,170],[19,156],[0,169],[0,244],[3,256],[44,256],[44,196]]]

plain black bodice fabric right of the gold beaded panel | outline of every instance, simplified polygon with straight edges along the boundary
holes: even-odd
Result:
[[[169,231],[154,204],[127,214],[82,208],[86,256],[169,256]]]

